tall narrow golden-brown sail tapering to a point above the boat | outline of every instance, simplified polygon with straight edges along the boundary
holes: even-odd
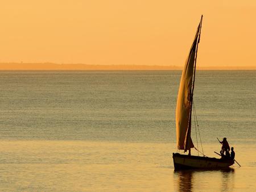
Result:
[[[203,18],[203,16],[202,16]],[[177,148],[187,151],[194,147],[191,139],[191,111],[193,99],[193,84],[195,81],[196,52],[200,40],[201,23],[191,46],[188,58],[181,75],[179,93],[176,106],[176,139]]]

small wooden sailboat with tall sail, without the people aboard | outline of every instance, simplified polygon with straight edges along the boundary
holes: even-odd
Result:
[[[191,148],[195,148],[191,139],[191,117],[193,107],[193,91],[195,88],[197,49],[200,42],[203,15],[196,36],[193,40],[184,69],[181,74],[176,106],[176,139],[177,149],[189,151],[188,155],[172,153],[174,169],[222,169],[234,164],[230,158],[211,158],[207,156],[192,156]],[[195,148],[196,149],[196,148]],[[196,149],[198,150],[198,149]]]

